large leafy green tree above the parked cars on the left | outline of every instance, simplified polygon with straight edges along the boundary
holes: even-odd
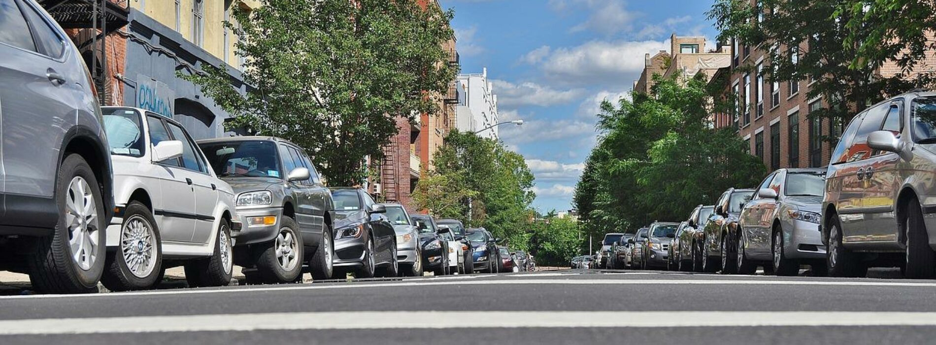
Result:
[[[261,3],[235,11],[239,25],[226,23],[241,37],[245,91],[223,68],[183,78],[235,115],[232,128],[305,148],[331,185],[358,184],[367,174],[363,158],[382,157],[397,132],[394,119],[437,112],[427,95],[445,92],[458,72],[443,63],[451,11],[417,0]]]

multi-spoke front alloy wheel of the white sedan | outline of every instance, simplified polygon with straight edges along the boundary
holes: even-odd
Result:
[[[146,278],[156,267],[155,233],[146,218],[134,215],[124,221],[121,230],[121,252],[130,273],[137,278]]]

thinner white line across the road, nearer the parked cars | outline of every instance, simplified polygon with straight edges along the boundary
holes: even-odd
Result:
[[[755,279],[747,279],[755,278]],[[32,298],[108,298],[124,296],[154,296],[154,295],[181,295],[202,293],[259,293],[259,292],[289,292],[304,290],[332,290],[332,289],[369,289],[387,287],[411,286],[446,286],[446,285],[791,285],[791,286],[851,286],[851,287],[904,287],[904,288],[936,288],[936,282],[902,282],[902,281],[865,281],[865,280],[768,280],[756,277],[745,279],[509,279],[509,280],[455,280],[439,278],[417,278],[396,282],[381,283],[350,283],[334,285],[304,284],[285,287],[262,287],[243,289],[180,289],[160,290],[133,293],[95,293],[95,294],[37,294],[3,296],[5,299],[32,299]]]

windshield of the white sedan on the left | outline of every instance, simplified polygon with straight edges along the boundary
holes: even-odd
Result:
[[[139,112],[125,108],[103,108],[104,131],[108,135],[110,154],[142,157],[146,141],[142,136]]]

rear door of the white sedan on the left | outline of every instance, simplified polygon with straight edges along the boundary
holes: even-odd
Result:
[[[172,139],[182,142],[182,169],[185,183],[195,193],[195,208],[190,213],[195,217],[192,242],[205,244],[214,233],[214,209],[218,204],[218,187],[208,163],[188,132],[174,121],[166,121]]]

